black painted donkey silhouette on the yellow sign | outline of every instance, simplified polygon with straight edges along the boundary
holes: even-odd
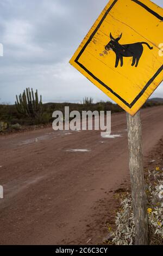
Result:
[[[112,50],[116,54],[116,63],[115,68],[118,67],[119,61],[121,61],[121,67],[123,66],[123,57],[133,57],[133,62],[131,66],[137,67],[140,61],[140,58],[143,53],[143,44],[146,44],[150,50],[153,49],[148,43],[141,42],[141,43],[134,43],[134,44],[120,44],[118,41],[121,39],[122,34],[118,38],[112,37],[110,33],[110,39],[109,43],[105,46],[105,50],[109,51]],[[136,63],[136,64],[135,64]]]

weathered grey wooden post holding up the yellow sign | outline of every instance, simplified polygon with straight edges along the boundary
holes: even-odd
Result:
[[[145,192],[140,111],[127,113],[129,169],[135,220],[135,245],[148,244],[147,198]]]

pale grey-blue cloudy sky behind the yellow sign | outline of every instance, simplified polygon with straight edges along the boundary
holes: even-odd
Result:
[[[163,7],[162,0],[153,0]],[[0,103],[26,87],[44,102],[108,100],[68,61],[108,0],[1,0]],[[163,97],[163,85],[154,97]]]

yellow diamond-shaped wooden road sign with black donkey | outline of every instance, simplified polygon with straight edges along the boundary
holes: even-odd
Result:
[[[70,61],[131,115],[163,80],[162,16],[149,0],[111,0]]]

